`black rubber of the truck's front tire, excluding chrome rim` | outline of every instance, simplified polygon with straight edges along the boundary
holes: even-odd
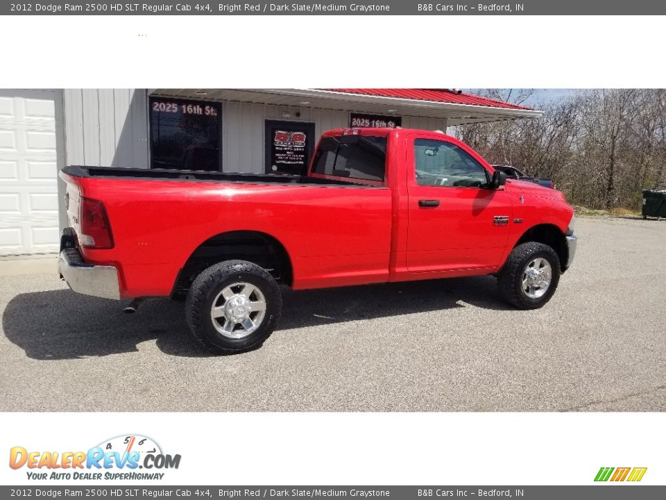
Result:
[[[552,277],[545,293],[538,298],[529,297],[523,290],[522,280],[527,266],[536,258],[545,258],[552,269]],[[527,242],[518,245],[509,254],[502,271],[497,275],[497,288],[502,298],[519,309],[538,309],[547,303],[560,282],[560,259],[557,253],[543,243]]]

